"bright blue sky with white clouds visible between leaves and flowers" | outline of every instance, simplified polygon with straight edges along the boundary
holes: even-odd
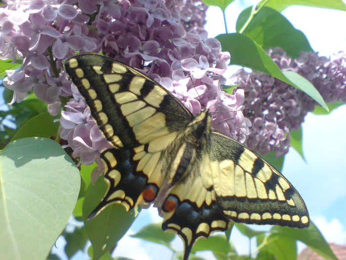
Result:
[[[229,32],[235,31],[239,12],[255,3],[245,0],[233,2],[226,9]],[[283,14],[297,28],[303,31],[310,45],[321,55],[330,56],[346,51],[346,15],[343,11],[292,6]],[[224,33],[221,10],[210,7],[206,29],[209,37]],[[293,149],[286,155],[283,174],[302,195],[311,219],[317,224],[329,242],[346,244],[346,105],[329,115],[309,113],[303,123],[303,151],[306,162]],[[142,226],[153,221],[162,221],[156,208],[142,210],[128,234],[133,234]],[[268,227],[255,226],[258,230]],[[248,253],[248,240],[237,230],[232,233],[232,241],[238,252]],[[174,241],[182,250],[180,239]],[[133,250],[135,248],[135,250]],[[300,246],[303,248],[303,246]],[[125,236],[119,243],[116,256],[135,260],[170,259],[172,254],[163,246]],[[213,259],[203,252],[201,256]]]

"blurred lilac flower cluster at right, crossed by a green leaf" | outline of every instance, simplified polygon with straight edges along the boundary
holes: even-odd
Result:
[[[283,71],[291,70],[308,79],[325,102],[346,102],[346,53],[319,57],[317,52],[301,52],[296,59],[280,48],[268,54]],[[317,104],[297,88],[267,74],[244,69],[232,77],[236,90],[245,91],[244,112],[252,126],[246,145],[256,152],[282,156],[290,147],[290,131],[301,127],[307,112]]]

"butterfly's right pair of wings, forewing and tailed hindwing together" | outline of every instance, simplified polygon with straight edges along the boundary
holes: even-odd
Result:
[[[162,228],[184,242],[184,260],[193,244],[230,220],[304,228],[309,216],[291,183],[244,145],[211,132],[210,144],[184,181],[175,184],[163,202]],[[184,158],[180,158],[183,161]]]

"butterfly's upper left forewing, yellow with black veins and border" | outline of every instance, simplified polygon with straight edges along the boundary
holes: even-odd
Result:
[[[136,147],[185,129],[193,116],[171,93],[143,73],[105,56],[65,61],[101,132],[115,147]]]

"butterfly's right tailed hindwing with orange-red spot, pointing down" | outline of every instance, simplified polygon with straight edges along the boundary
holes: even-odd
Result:
[[[225,231],[229,219],[220,211],[213,188],[212,168],[207,150],[183,182],[174,185],[161,213],[163,230],[176,233],[184,243],[187,260],[194,243],[215,231]]]

